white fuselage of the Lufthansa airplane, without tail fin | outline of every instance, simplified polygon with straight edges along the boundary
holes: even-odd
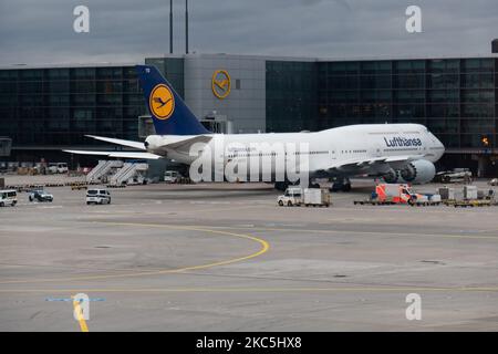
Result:
[[[307,154],[309,171],[313,175],[360,175],[376,174],[375,166],[365,164],[354,166],[355,162],[365,162],[380,157],[424,156],[432,163],[444,154],[443,144],[423,125],[418,124],[369,124],[350,125],[317,133],[266,133],[266,134],[212,134],[206,144],[206,158],[222,158],[224,165],[237,160],[260,159],[261,164],[274,165],[278,158],[289,159]],[[147,137],[147,150],[179,163],[190,165],[198,156],[189,149],[172,149],[167,145],[194,138],[195,136]],[[281,147],[281,148],[276,148]],[[203,153],[204,154],[204,153]],[[270,158],[269,158],[270,157]],[[349,165],[353,168],[349,169]],[[338,167],[334,171],[332,168]],[[345,166],[345,167],[341,167]],[[351,166],[350,166],[351,167]],[[278,173],[279,164],[272,167]]]

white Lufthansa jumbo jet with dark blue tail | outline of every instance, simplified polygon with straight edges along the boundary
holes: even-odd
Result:
[[[252,168],[258,168],[256,175],[260,175],[264,164],[271,164],[269,180],[264,181],[276,183],[278,189],[284,189],[290,179],[288,165],[277,160],[287,162],[291,154],[301,157],[305,154],[310,183],[333,178],[334,189],[343,190],[351,188],[350,177],[360,175],[382,177],[386,183],[428,183],[436,173],[434,163],[445,152],[443,144],[419,124],[350,125],[314,133],[212,134],[155,66],[137,65],[136,70],[156,134],[149,135],[145,143],[89,135],[137,152],[65,152],[133,159],[168,158],[187,165],[205,155],[212,160],[219,158],[221,169],[235,162],[246,164],[256,158],[257,165],[247,164],[247,175],[252,175]],[[204,146],[199,155],[191,154],[195,144]],[[291,144],[307,148],[290,149]],[[276,145],[283,148],[271,153],[258,148]],[[283,177],[280,180],[278,176]]]

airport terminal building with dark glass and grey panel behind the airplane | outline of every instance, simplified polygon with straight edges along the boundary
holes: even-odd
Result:
[[[498,58],[187,54],[144,62],[156,65],[215,132],[419,123],[447,148],[440,168],[498,175]],[[12,145],[1,160],[86,166],[92,158],[61,149],[103,147],[85,134],[139,140],[152,129],[133,64],[0,69],[0,137]]]

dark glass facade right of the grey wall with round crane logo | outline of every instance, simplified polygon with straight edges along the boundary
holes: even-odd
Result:
[[[305,114],[295,114],[304,97]],[[421,123],[448,148],[496,148],[497,112],[494,58],[267,62],[269,132]]]

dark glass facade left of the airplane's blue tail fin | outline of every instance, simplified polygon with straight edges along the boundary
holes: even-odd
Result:
[[[98,144],[85,134],[136,139],[144,110],[133,66],[0,71],[0,135],[14,147]]]

